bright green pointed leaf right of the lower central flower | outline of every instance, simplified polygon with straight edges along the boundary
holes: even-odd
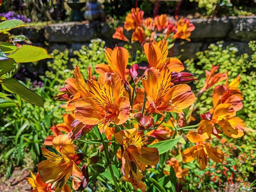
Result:
[[[171,150],[171,148],[173,148],[174,145],[176,145],[180,141],[181,137],[182,135],[179,136],[178,138],[173,138],[166,141],[160,141],[158,143],[150,144],[148,145],[148,147],[156,147],[158,149],[159,154],[163,154]]]

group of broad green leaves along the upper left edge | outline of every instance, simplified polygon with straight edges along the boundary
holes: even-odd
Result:
[[[25,26],[21,20],[6,20],[0,23],[0,33]],[[8,42],[0,42],[0,84],[8,92],[18,94],[29,103],[43,107],[43,99],[23,86],[17,80],[11,78],[12,70],[16,68],[16,63],[27,63],[50,58],[47,51],[41,47],[23,45],[19,49]],[[6,54],[6,55],[5,55]]]

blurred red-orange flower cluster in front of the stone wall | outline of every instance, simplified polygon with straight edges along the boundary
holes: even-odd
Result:
[[[158,15],[155,18],[143,18],[144,11],[138,7],[132,8],[131,13],[125,18],[124,27],[117,27],[112,38],[129,42],[130,40],[124,35],[126,31],[132,30],[132,42],[144,44],[157,39],[166,39],[168,42],[173,42],[175,39],[186,39],[190,41],[189,36],[191,31],[195,29],[193,23],[186,18],[176,17],[176,22],[172,22],[167,18],[166,14]]]

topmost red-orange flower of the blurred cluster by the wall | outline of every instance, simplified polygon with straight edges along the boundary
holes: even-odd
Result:
[[[130,31],[131,29],[135,29],[138,26],[142,25],[143,22],[143,16],[144,16],[144,11],[139,10],[139,7],[132,8],[131,13],[128,13],[125,22],[124,22],[124,29],[126,31]]]

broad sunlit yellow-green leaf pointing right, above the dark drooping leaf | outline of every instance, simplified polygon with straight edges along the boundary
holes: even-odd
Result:
[[[32,45],[22,45],[15,53],[7,57],[13,58],[16,63],[28,63],[38,60],[52,58],[48,55],[46,49]]]

